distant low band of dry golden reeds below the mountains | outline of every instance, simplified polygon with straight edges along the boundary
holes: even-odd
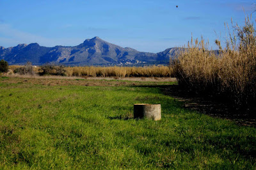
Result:
[[[13,72],[21,66],[10,66]],[[35,73],[42,73],[44,67],[44,74],[61,75],[62,73],[67,76],[88,76],[88,77],[171,77],[172,68],[168,66],[144,66],[144,67],[122,67],[122,66],[74,66],[62,67],[61,66],[41,66],[34,67]],[[47,68],[47,69],[45,69]],[[62,70],[61,70],[62,69]],[[47,71],[48,70],[48,71]],[[58,72],[60,72],[58,74]]]

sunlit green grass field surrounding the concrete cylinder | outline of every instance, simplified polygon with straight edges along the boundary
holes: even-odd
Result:
[[[256,129],[154,87],[170,83],[67,81],[84,85],[0,78],[0,169],[256,169]],[[136,103],[162,120],[132,119]]]

